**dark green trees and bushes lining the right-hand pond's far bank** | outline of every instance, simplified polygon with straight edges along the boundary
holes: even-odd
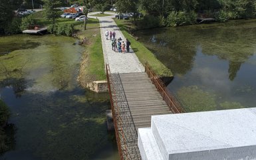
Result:
[[[120,13],[145,11],[144,18],[134,17],[140,28],[191,25],[197,18],[226,22],[256,17],[256,1],[252,0],[117,0],[116,4]]]

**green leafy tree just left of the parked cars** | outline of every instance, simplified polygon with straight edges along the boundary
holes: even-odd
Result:
[[[55,21],[57,17],[59,17],[57,7],[61,4],[61,1],[59,0],[43,0],[45,8],[45,17],[49,19],[52,23],[52,25],[55,25]]]

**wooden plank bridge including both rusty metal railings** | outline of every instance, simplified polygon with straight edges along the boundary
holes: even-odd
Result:
[[[148,64],[145,72],[122,74],[106,64],[106,76],[120,159],[141,159],[138,128],[150,127],[151,116],[184,110]]]

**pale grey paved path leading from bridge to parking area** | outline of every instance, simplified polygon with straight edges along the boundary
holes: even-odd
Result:
[[[90,18],[96,18],[91,15],[96,13],[88,14]],[[113,14],[107,13],[106,14]],[[97,17],[100,21],[100,34],[102,40],[102,48],[104,53],[104,60],[106,64],[110,66],[111,73],[133,73],[133,72],[144,72],[144,66],[142,66],[141,62],[138,60],[136,54],[133,52],[132,48],[130,48],[130,52],[114,52],[112,50],[111,40],[108,37],[106,40],[105,32],[115,31],[116,39],[119,37],[126,42],[126,39],[120,29],[117,27],[116,23],[112,18],[114,15],[108,17]],[[132,46],[132,45],[131,45]]]

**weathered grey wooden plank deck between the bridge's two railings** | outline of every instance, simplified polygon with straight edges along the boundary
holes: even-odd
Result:
[[[146,72],[119,74],[136,130],[150,127],[151,116],[172,114]]]

